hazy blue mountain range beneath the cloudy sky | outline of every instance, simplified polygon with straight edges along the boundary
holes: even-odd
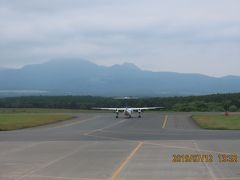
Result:
[[[173,96],[240,92],[240,77],[144,71],[134,64],[99,66],[86,60],[52,60],[0,71],[0,96]]]

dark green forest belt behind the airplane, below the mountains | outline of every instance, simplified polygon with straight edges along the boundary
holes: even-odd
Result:
[[[128,101],[130,107],[164,106],[166,111],[240,111],[240,93],[206,96],[139,98]],[[32,96],[0,99],[0,108],[124,107],[124,100],[94,96]]]

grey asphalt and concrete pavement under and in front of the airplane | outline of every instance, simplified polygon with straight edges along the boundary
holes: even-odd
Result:
[[[240,180],[240,131],[200,129],[190,113],[75,116],[0,132],[0,180]]]

